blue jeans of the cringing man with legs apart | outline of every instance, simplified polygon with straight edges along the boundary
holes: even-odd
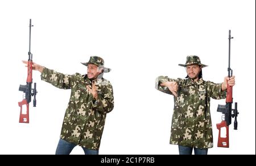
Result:
[[[76,144],[69,143],[63,139],[59,140],[55,155],[69,155],[73,148],[76,147]],[[98,155],[98,150],[88,150],[82,147],[85,155]]]

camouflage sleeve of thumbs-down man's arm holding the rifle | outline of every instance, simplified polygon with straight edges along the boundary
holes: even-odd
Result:
[[[213,99],[224,99],[226,98],[226,90],[221,90],[221,84],[215,84],[213,82],[207,82],[207,92],[209,97]]]

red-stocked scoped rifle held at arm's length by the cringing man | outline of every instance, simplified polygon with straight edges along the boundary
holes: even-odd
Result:
[[[36,83],[34,83],[34,89],[32,89],[32,53],[30,52],[30,45],[31,45],[31,19],[30,19],[30,36],[29,36],[29,49],[28,49],[28,61],[27,61],[27,84],[26,85],[19,85],[19,91],[22,91],[25,94],[25,98],[21,102],[18,102],[20,107],[20,114],[19,114],[19,123],[29,123],[29,103],[31,102],[31,96],[34,96],[33,106],[36,106]],[[23,95],[24,97],[24,95]],[[27,106],[26,113],[22,113],[22,106]]]

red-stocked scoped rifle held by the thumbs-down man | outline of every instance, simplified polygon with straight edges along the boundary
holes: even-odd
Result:
[[[228,66],[228,77],[232,77],[233,70],[230,68],[230,40],[233,39],[230,35],[229,30],[229,66]],[[235,109],[232,109],[233,103],[233,88],[227,85],[226,89],[226,105],[218,105],[217,111],[224,114],[224,120],[217,124],[218,129],[218,147],[229,147],[229,124],[232,123],[232,118],[234,118],[234,130],[237,130],[237,102],[235,102]],[[233,111],[233,114],[232,114]],[[223,116],[223,115],[222,115]],[[221,137],[221,128],[226,128],[226,137]]]

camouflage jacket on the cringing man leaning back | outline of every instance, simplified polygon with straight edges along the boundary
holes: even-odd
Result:
[[[79,73],[69,75],[44,68],[42,80],[61,89],[71,89],[60,138],[79,146],[98,150],[104,130],[106,113],[113,110],[112,85],[104,78],[96,81],[98,100],[86,89],[92,82]]]

